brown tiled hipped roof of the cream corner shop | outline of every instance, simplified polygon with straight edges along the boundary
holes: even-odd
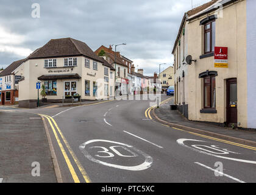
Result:
[[[100,59],[86,43],[73,38],[51,39],[48,43],[44,44],[43,47],[30,54],[28,59],[74,55],[84,55],[90,59],[102,62],[102,59]]]

